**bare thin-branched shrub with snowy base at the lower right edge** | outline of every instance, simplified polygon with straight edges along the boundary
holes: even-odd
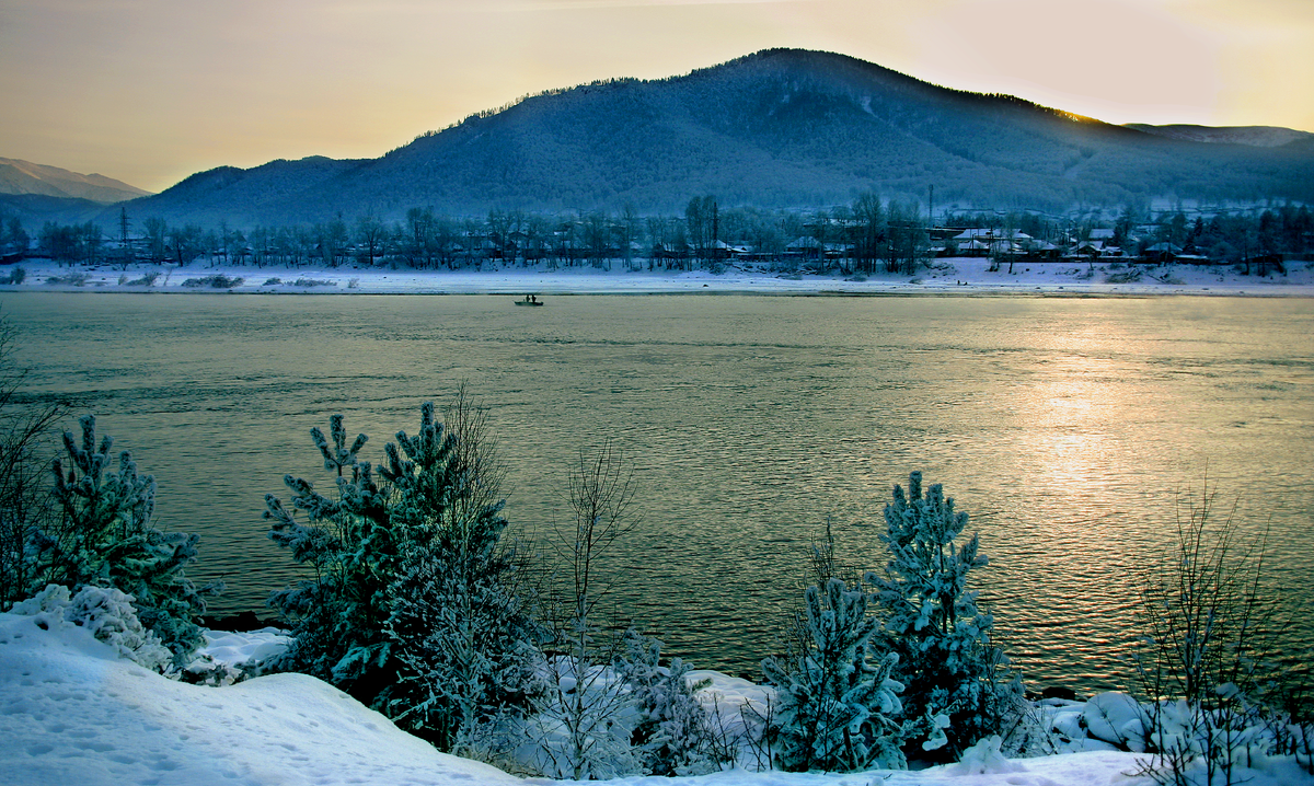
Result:
[[[1236,522],[1213,517],[1214,493],[1177,499],[1177,543],[1142,574],[1135,666],[1160,783],[1236,783],[1256,758],[1305,756],[1307,685],[1281,665],[1280,636],[1298,610],[1265,582],[1265,542],[1238,545]],[[1284,706],[1285,705],[1285,706]],[[1293,716],[1292,710],[1296,710]],[[1133,748],[1135,749],[1135,748]]]

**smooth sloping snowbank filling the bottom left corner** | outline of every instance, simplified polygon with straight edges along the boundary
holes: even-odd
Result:
[[[11,786],[520,782],[438,753],[313,677],[184,685],[33,616],[0,614],[0,697]]]

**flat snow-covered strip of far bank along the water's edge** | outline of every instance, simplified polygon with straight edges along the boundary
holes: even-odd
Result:
[[[1243,275],[1233,266],[1193,264],[1137,266],[1138,280],[1118,281],[1129,272],[1123,264],[1076,262],[1008,263],[991,272],[986,259],[940,259],[916,276],[879,273],[857,280],[854,276],[784,276],[766,267],[732,266],[720,275],[707,271],[675,272],[624,271],[615,262],[611,271],[594,267],[547,269],[486,264],[482,271],[407,271],[384,267],[343,266],[283,268],[208,267],[194,263],[177,266],[59,267],[33,259],[20,267],[26,271],[22,284],[0,285],[0,292],[189,292],[189,293],[323,293],[323,294],[599,294],[599,293],[738,293],[738,294],[1197,294],[1197,296],[1297,296],[1314,297],[1314,262],[1289,262],[1286,273]],[[147,273],[154,283],[143,285]],[[0,275],[8,275],[0,269]],[[243,279],[240,285],[214,288],[188,287],[188,280],[222,275]],[[70,277],[72,276],[72,277]],[[1110,281],[1110,277],[1113,281]],[[277,283],[273,283],[277,280]],[[298,285],[300,281],[300,285]],[[310,284],[314,283],[314,284]]]

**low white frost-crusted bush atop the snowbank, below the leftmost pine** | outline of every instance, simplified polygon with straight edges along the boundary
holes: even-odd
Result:
[[[173,653],[154,631],[142,627],[133,610],[133,598],[117,589],[84,586],[70,597],[67,586],[51,584],[26,601],[14,603],[11,613],[34,618],[33,622],[43,630],[60,626],[87,628],[121,657],[155,672],[172,672]]]

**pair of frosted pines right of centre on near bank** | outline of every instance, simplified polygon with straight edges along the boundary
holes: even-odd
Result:
[[[787,770],[900,769],[909,756],[957,757],[1000,733],[1021,681],[992,644],[968,573],[986,564],[967,514],[921,473],[895,486],[882,540],[891,560],[861,581],[834,576],[834,544],[816,548],[790,659],[762,672],[779,690],[778,764]],[[863,585],[863,586],[859,586]],[[865,589],[865,588],[870,588]]]

